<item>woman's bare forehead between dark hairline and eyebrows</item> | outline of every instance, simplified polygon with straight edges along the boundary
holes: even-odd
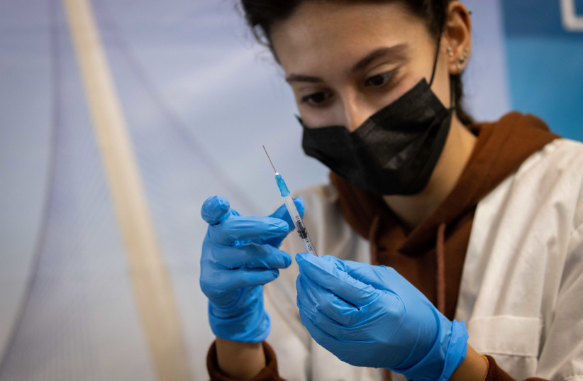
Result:
[[[286,72],[349,65],[379,47],[431,40],[400,1],[304,1],[270,37]]]

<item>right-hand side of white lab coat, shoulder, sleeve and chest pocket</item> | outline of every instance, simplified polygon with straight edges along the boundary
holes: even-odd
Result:
[[[477,209],[456,319],[516,380],[583,381],[582,189],[583,146],[555,140]]]

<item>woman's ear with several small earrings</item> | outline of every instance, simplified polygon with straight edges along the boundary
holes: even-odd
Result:
[[[461,74],[472,54],[472,20],[470,12],[460,1],[451,1],[447,13],[443,48],[448,57],[450,74]]]

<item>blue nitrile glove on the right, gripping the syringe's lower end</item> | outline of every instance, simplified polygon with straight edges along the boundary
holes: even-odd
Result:
[[[448,380],[467,350],[450,321],[391,267],[296,255],[301,322],[351,365],[389,368],[409,380]]]

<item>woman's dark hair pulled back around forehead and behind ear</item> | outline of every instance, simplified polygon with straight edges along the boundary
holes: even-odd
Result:
[[[245,19],[257,41],[266,45],[272,53],[274,50],[270,41],[270,31],[272,26],[278,21],[289,18],[296,9],[305,1],[315,0],[241,0]],[[331,1],[331,0],[330,0]],[[399,1],[406,6],[411,13],[426,21],[429,33],[437,41],[440,31],[443,30],[447,18],[448,4],[452,0],[335,0],[342,1],[375,1],[388,2]],[[277,59],[277,57],[275,57]],[[460,121],[464,124],[473,123],[473,119],[468,114],[463,105],[463,86],[460,74],[450,75],[453,97],[455,100],[455,112]]]

